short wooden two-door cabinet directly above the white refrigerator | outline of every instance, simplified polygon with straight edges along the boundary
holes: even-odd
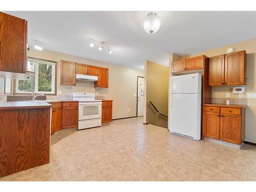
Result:
[[[172,73],[203,69],[205,60],[208,59],[205,55],[182,59],[172,62]]]

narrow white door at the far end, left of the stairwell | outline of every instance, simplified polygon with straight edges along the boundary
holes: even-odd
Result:
[[[137,114],[138,116],[143,116],[144,114],[144,77],[138,77],[138,82],[137,82]]]

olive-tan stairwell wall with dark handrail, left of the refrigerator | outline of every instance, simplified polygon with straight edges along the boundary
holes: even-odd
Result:
[[[151,61],[145,65],[146,123],[167,128],[167,118],[156,115],[148,102],[152,101],[159,112],[167,116],[169,68]]]

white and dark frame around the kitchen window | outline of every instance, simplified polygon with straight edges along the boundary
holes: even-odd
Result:
[[[52,90],[51,93],[49,92],[42,92],[42,91],[35,91],[35,93],[43,93],[45,95],[57,95],[57,61],[52,61],[52,60],[47,60],[47,59],[40,59],[40,58],[35,58],[35,57],[28,57],[28,59],[31,59],[31,60],[35,60],[36,62],[38,61],[44,61],[44,62],[48,62],[49,65],[55,65],[55,68],[52,67],[52,70],[54,69],[55,72],[53,73],[54,74],[54,89]],[[38,65],[35,67],[35,72],[31,72],[31,71],[27,71],[27,73],[34,73],[36,74],[36,71],[38,73]],[[37,89],[38,89],[38,82],[37,81],[37,78],[36,75],[35,75],[35,89],[36,89],[36,86],[37,86]],[[13,93],[14,95],[31,95],[32,92],[18,92],[17,91],[17,87],[18,87],[18,79],[17,80],[14,80],[14,83],[13,83]]]

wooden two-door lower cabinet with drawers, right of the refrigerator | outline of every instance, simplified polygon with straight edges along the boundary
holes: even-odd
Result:
[[[242,144],[245,139],[245,108],[226,106],[219,108],[219,112],[212,113],[208,112],[210,110],[209,105],[204,106],[203,136]]]

